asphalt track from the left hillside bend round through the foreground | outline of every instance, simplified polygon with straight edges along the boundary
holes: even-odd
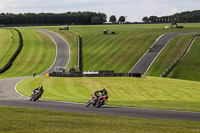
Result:
[[[42,30],[42,32],[48,34],[57,45],[57,55],[54,64],[48,70],[54,70],[55,66],[65,67],[69,61],[69,45],[63,38],[56,33]],[[159,40],[158,40],[159,42]],[[62,47],[62,48],[60,48]],[[68,47],[68,48],[67,48]],[[67,53],[66,53],[67,52]],[[63,56],[65,58],[63,58]],[[59,62],[57,60],[60,60]],[[39,100],[36,102],[30,102],[28,97],[22,96],[15,91],[15,86],[18,82],[32,77],[20,77],[0,80],[0,105],[36,108],[45,110],[56,110],[65,112],[76,113],[94,113],[102,115],[114,115],[114,116],[127,116],[127,117],[142,117],[142,118],[156,118],[156,119],[172,119],[172,120],[187,120],[187,121],[200,121],[200,113],[195,112],[180,112],[180,111],[166,111],[166,110],[153,110],[153,109],[137,109],[115,106],[103,106],[101,108],[84,107],[84,104],[67,103]],[[31,95],[31,94],[30,94]],[[89,100],[90,97],[88,97]]]

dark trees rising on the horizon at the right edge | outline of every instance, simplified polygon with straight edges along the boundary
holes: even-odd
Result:
[[[179,23],[199,23],[200,22],[200,10],[195,11],[187,11],[176,13],[170,16],[150,16],[150,17],[143,17],[142,21],[144,23],[171,23],[173,21]]]

